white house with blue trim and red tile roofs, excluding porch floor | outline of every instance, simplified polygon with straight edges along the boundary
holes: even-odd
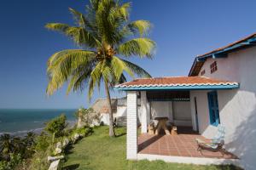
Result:
[[[190,126],[206,138],[212,138],[221,123],[226,128],[225,149],[240,158],[242,167],[255,169],[255,45],[256,34],[253,34],[224,48],[197,56],[189,77],[144,78],[116,86],[116,89],[127,93],[127,158],[200,164],[234,161],[199,157],[178,159],[172,154],[169,157],[153,156],[155,153],[143,155],[138,150],[137,139],[139,93],[142,133],[147,133],[148,122],[156,116],[166,116],[177,126]],[[190,153],[190,156],[193,157],[193,154]]]

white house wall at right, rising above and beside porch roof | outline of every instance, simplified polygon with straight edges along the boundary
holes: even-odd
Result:
[[[210,73],[210,65],[217,60],[218,71]],[[218,90],[220,122],[226,127],[225,147],[241,158],[246,169],[256,167],[256,47],[242,49],[224,59],[207,59],[202,67],[206,77],[240,82],[238,90]],[[201,71],[202,71],[201,70]],[[191,93],[191,94],[194,94]],[[201,95],[201,102],[206,99]],[[191,97],[191,96],[190,96]],[[198,101],[198,105],[201,104]],[[202,106],[204,107],[204,106]],[[201,108],[201,111],[206,108]],[[208,115],[208,114],[206,114]],[[207,118],[207,117],[205,117]],[[200,124],[203,135],[211,129]]]

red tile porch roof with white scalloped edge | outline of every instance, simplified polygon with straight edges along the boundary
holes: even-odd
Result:
[[[205,85],[238,85],[237,82],[223,81],[208,77],[155,77],[141,78],[117,85],[115,88],[129,87],[172,87],[172,86],[205,86]]]

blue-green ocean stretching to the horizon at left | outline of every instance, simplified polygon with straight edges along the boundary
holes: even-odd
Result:
[[[23,135],[29,131],[39,133],[44,123],[61,115],[67,116],[67,122],[74,124],[74,109],[0,109],[0,135],[10,133]]]

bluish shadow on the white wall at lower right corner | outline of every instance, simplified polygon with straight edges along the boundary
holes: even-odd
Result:
[[[236,127],[233,140],[226,144],[239,158],[245,169],[254,170],[256,167],[256,108],[248,118]],[[236,147],[234,147],[236,146]]]

